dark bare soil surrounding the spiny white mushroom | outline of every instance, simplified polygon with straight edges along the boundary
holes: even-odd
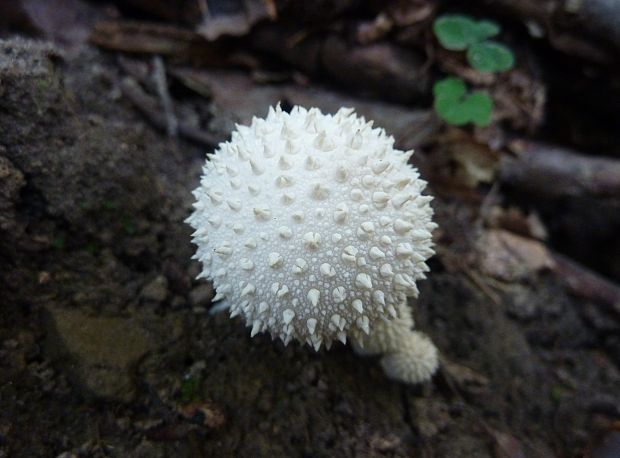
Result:
[[[439,255],[412,304],[444,359],[432,382],[209,315],[183,223],[208,149],[155,130],[122,76],[92,46],[0,42],[0,457],[571,457],[620,419],[618,317],[548,269],[472,267],[490,229],[440,174]],[[438,129],[320,85],[203,77],[209,98],[175,97],[217,138],[281,99],[355,105],[403,146]]]

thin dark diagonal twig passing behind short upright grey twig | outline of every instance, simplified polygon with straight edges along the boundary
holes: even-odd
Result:
[[[133,78],[126,77],[120,83],[120,88],[125,97],[153,124],[156,128],[165,131],[168,126],[166,116],[161,113],[157,102],[152,97],[144,93],[142,88]],[[220,139],[207,132],[202,132],[194,127],[180,122],[178,125],[179,135],[182,137],[199,143],[213,147],[220,142]]]

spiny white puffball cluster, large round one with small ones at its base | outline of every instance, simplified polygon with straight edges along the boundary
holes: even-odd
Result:
[[[187,222],[199,277],[251,336],[316,351],[350,337],[383,354],[389,376],[418,382],[437,367],[407,306],[434,254],[432,198],[413,151],[372,125],[350,108],[270,108],[208,155]]]

